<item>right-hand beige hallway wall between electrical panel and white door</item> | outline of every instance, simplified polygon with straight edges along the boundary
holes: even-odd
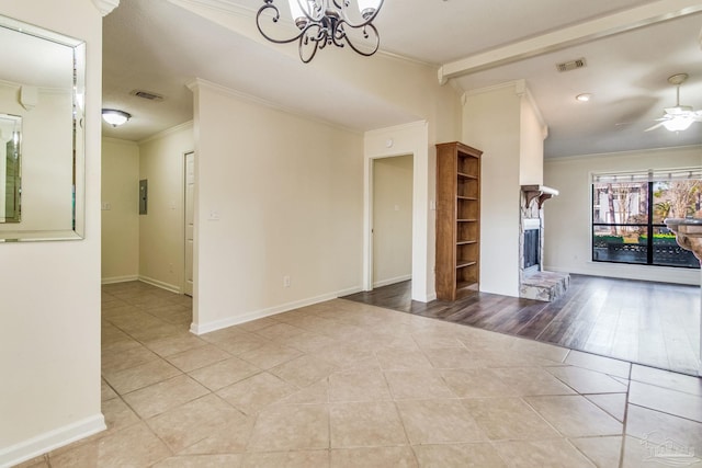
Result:
[[[138,179],[148,180],[147,214],[138,217],[139,278],[178,293],[185,269],[184,158],[193,148],[192,123],[139,142]]]

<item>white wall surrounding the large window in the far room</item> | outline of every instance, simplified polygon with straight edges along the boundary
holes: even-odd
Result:
[[[561,191],[544,204],[545,269],[597,276],[700,284],[698,270],[591,261],[592,172],[702,165],[702,147],[591,155],[545,160],[544,183]]]

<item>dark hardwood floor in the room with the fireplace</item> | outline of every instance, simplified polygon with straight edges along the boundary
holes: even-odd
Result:
[[[700,287],[570,275],[553,303],[479,293],[455,303],[411,300],[410,282],[346,296],[403,312],[697,375]]]

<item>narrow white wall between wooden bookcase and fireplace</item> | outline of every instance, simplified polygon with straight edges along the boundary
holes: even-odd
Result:
[[[480,290],[519,296],[521,98],[514,84],[466,93],[463,142],[480,159]]]

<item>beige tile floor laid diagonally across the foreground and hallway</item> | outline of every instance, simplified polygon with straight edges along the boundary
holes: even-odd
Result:
[[[202,336],[143,283],[102,307],[107,430],[23,467],[702,464],[699,378],[343,299]]]

